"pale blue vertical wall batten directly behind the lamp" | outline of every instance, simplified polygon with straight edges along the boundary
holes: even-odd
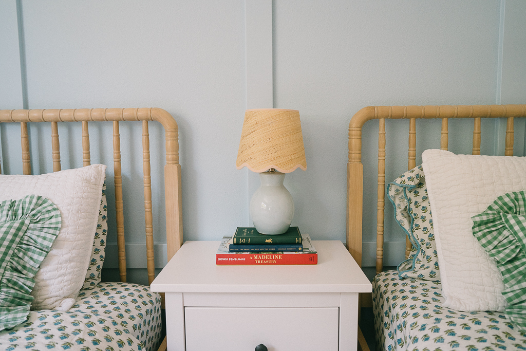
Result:
[[[274,107],[272,77],[272,0],[245,0],[245,45],[247,109]],[[243,116],[236,121],[242,124]],[[252,194],[259,187],[257,173],[247,172],[247,212]],[[248,226],[252,218],[248,213]]]

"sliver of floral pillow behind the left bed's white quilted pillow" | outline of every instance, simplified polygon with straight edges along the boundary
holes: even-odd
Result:
[[[99,217],[95,237],[93,238],[92,256],[89,258],[88,271],[84,278],[83,289],[89,289],[100,283],[100,272],[104,263],[106,235],[108,234],[108,205],[106,202],[106,183],[102,186]]]

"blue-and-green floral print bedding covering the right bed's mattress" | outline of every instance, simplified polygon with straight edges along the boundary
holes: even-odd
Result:
[[[526,350],[526,333],[504,313],[442,307],[438,281],[400,278],[389,270],[373,279],[372,289],[379,350]]]

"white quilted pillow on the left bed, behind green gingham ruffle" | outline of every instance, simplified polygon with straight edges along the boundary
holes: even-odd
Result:
[[[68,310],[88,269],[106,166],[92,165],[42,175],[0,175],[0,202],[29,194],[50,199],[62,227],[43,260],[31,295],[32,309]]]

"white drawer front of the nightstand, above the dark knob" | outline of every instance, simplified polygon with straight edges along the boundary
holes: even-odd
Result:
[[[338,307],[185,307],[187,351],[338,350]],[[168,330],[169,334],[169,330]]]

